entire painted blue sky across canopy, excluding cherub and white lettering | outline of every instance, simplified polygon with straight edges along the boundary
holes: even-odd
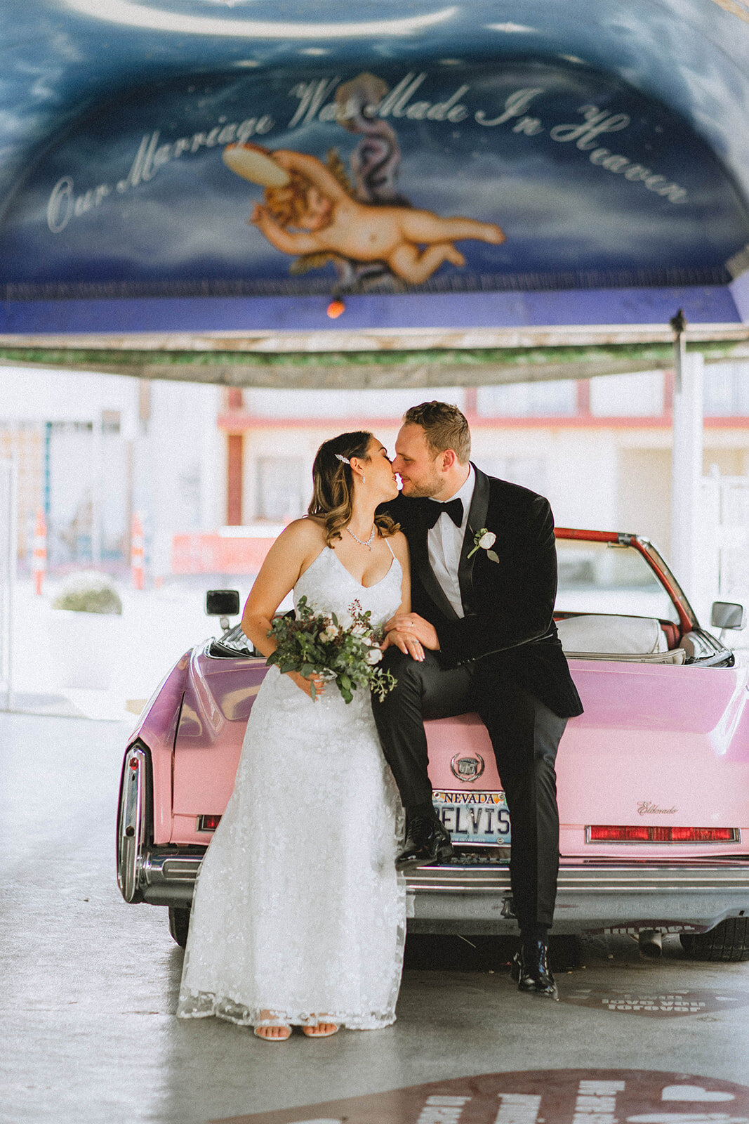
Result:
[[[261,191],[223,165],[220,144],[117,184],[144,138],[163,146],[263,115],[273,126],[255,139],[268,147],[320,158],[335,147],[348,164],[358,138],[319,115],[291,127],[290,91],[364,70],[391,90],[424,75],[387,118],[399,191],[506,234],[501,246],[462,242],[465,266],[441,265],[427,290],[721,283],[749,241],[749,24],[714,0],[0,0],[0,13],[9,297],[328,291],[332,266],[292,277],[289,255],[247,225]],[[464,85],[462,120],[408,111]],[[520,114],[477,119],[524,89],[538,90],[524,115],[535,133]],[[561,139],[591,107],[627,124]],[[596,144],[612,166],[592,161]],[[637,167],[673,191],[628,179]],[[101,185],[100,205],[82,209]]]

